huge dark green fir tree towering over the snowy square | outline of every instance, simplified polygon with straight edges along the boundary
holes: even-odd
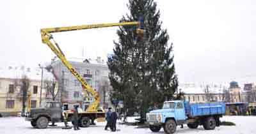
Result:
[[[125,110],[140,112],[145,119],[149,107],[161,107],[177,90],[173,44],[168,43],[167,30],[161,28],[160,11],[153,0],[130,0],[127,6],[130,13],[121,22],[143,17],[145,33],[141,38],[134,26],[118,29],[119,40],[114,41],[114,54],[108,58],[111,97],[123,100]]]

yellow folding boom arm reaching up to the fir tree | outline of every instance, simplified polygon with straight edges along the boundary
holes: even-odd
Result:
[[[54,28],[45,28],[41,29],[41,37],[42,42],[48,45],[48,47],[51,48],[52,52],[56,54],[62,61],[62,63],[67,66],[68,70],[81,82],[82,87],[88,92],[90,92],[95,99],[93,101],[92,105],[90,105],[87,108],[87,112],[97,112],[97,107],[100,103],[100,96],[97,91],[95,91],[79,73],[72,67],[72,65],[67,61],[65,55],[61,51],[59,45],[53,40],[51,33],[58,33],[58,32],[64,32],[64,31],[76,31],[76,30],[83,30],[83,29],[93,29],[93,28],[100,28],[100,27],[114,27],[114,26],[139,26],[141,22],[120,22],[120,23],[111,23],[111,24],[93,24],[93,25],[82,25],[82,26],[70,26],[70,27],[54,27]],[[141,27],[140,27],[141,28]],[[143,29],[137,29],[138,34],[143,34]],[[53,40],[53,42],[52,42]]]

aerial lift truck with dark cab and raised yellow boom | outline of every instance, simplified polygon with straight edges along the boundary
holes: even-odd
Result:
[[[92,24],[92,25],[82,25],[82,26],[69,26],[69,27],[54,27],[54,28],[45,28],[41,29],[42,42],[45,43],[52,52],[56,54],[61,62],[67,66],[68,70],[81,82],[83,87],[84,94],[90,93],[94,101],[84,112],[79,112],[79,126],[88,127],[90,126],[91,121],[93,122],[97,119],[98,122],[104,121],[105,112],[104,110],[99,110],[100,96],[97,91],[95,91],[79,73],[72,67],[72,65],[67,61],[65,55],[61,51],[60,46],[56,41],[54,41],[51,33],[60,33],[65,31],[77,31],[83,29],[95,29],[101,27],[114,27],[114,26],[138,26],[136,33],[138,36],[143,36],[143,18],[140,18],[138,22],[119,22],[111,24]],[[51,101],[47,102],[47,105],[44,108],[31,108],[30,101],[28,99],[28,113],[26,114],[26,121],[31,122],[31,126],[34,128],[47,128],[49,122],[51,123],[60,123],[65,122],[67,126],[68,121],[72,121],[73,113],[70,111],[64,111],[61,106],[61,102]]]

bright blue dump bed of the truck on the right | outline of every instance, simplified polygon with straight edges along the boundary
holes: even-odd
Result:
[[[225,114],[225,103],[185,103],[186,114],[189,117],[205,116],[205,115],[223,115]]]

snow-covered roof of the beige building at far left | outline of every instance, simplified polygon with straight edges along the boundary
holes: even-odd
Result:
[[[8,66],[0,68],[0,78],[22,78],[26,75],[31,80],[41,80],[40,68],[26,68],[25,66]],[[44,79],[54,78],[51,72],[44,70]]]

